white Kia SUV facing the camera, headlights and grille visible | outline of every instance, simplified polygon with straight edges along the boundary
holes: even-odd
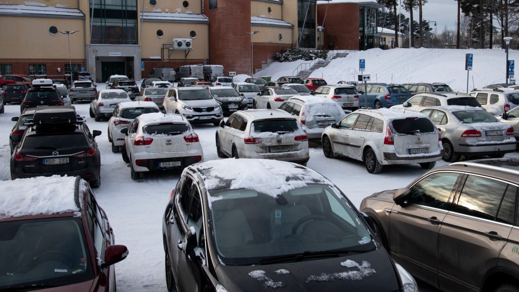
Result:
[[[168,89],[162,104],[167,113],[182,114],[189,123],[212,123],[217,126],[223,119],[222,107],[199,87],[173,87]]]

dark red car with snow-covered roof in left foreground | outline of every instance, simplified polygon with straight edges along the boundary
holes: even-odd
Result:
[[[0,184],[1,291],[115,291],[114,244],[106,214],[79,177]]]

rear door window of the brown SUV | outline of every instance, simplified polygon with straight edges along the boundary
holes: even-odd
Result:
[[[508,183],[469,175],[452,211],[494,220]]]

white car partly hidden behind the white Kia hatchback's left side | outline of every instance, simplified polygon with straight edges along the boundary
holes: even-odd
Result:
[[[159,107],[152,101],[129,101],[117,104],[108,120],[108,142],[112,142],[112,152],[119,152],[125,144],[125,134],[121,129],[129,128],[133,120],[141,114],[158,113]]]

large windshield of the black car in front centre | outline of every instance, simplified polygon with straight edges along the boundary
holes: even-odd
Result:
[[[293,262],[294,258],[282,256],[362,253],[375,248],[357,212],[329,185],[308,184],[277,196],[249,189],[220,189],[210,196],[211,235],[218,258],[229,266]]]

